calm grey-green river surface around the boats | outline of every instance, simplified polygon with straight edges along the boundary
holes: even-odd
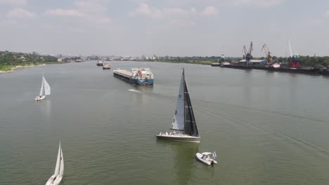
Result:
[[[0,74],[0,184],[46,184],[61,140],[68,184],[329,184],[329,78],[197,64],[150,67],[155,84],[96,61]],[[200,144],[166,142],[181,68]],[[34,102],[44,73],[46,100]],[[142,93],[131,92],[129,89]],[[195,153],[217,151],[206,166]]]

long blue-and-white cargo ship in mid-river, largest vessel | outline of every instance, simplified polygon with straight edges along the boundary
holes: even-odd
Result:
[[[117,69],[113,70],[113,75],[136,85],[152,85],[154,77],[149,68],[131,68],[131,71]]]

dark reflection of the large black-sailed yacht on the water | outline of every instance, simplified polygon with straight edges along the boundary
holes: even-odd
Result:
[[[195,171],[195,153],[199,144],[191,142],[171,142],[157,139],[157,144],[166,144],[174,153],[174,169],[176,184],[191,184],[192,172]]]

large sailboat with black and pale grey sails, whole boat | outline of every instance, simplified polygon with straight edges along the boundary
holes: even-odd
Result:
[[[157,135],[158,139],[168,139],[179,142],[200,142],[198,128],[195,122],[193,108],[190,95],[186,86],[185,74],[181,75],[181,83],[179,86],[179,96],[172,122],[172,132],[160,132]]]

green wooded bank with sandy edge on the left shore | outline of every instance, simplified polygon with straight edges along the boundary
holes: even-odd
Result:
[[[39,55],[38,53],[16,53],[0,51],[0,73],[11,72],[14,69],[22,67],[35,67],[46,64],[63,64],[58,62],[57,57],[48,55]]]

